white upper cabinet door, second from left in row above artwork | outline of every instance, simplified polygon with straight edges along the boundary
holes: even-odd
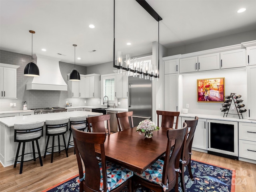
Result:
[[[180,73],[198,71],[198,57],[180,59]]]

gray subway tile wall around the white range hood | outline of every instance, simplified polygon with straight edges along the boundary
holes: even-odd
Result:
[[[0,111],[22,110],[22,101],[28,103],[28,109],[42,107],[65,107],[66,101],[72,106],[84,106],[84,100],[80,98],[68,98],[68,91],[48,91],[48,90],[25,90],[28,81],[24,76],[24,68],[30,62],[31,56],[0,50],[0,62],[4,64],[19,65],[17,69],[17,99],[0,99]],[[74,68],[74,64],[59,62],[60,72],[65,82],[68,84],[67,73]],[[86,74],[86,67],[76,65],[80,74]],[[16,107],[10,107],[10,103],[16,103]]]

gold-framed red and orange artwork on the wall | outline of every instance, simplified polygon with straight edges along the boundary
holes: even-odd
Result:
[[[224,102],[225,78],[197,80],[197,102]]]

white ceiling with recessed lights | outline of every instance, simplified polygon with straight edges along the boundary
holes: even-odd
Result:
[[[166,48],[256,29],[256,0],[147,2],[163,18],[160,44]],[[116,51],[131,57],[152,52],[152,42],[158,41],[158,22],[135,0],[116,0],[115,4]],[[240,8],[247,10],[238,14]],[[77,44],[78,65],[113,60],[113,0],[0,0],[0,11],[1,50],[31,55],[29,30],[34,30],[33,54],[74,63],[72,44]]]

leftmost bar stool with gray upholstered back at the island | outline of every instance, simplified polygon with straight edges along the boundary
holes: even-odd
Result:
[[[14,142],[19,142],[16,158],[14,162],[14,168],[16,167],[17,162],[20,162],[20,174],[22,174],[23,162],[27,162],[31,160],[36,161],[36,158],[39,158],[40,165],[43,166],[42,158],[40,154],[40,148],[38,144],[38,139],[40,139],[40,137],[43,136],[43,127],[44,127],[43,121],[36,122],[36,123],[28,123],[28,124],[14,124]],[[25,144],[26,142],[30,142],[30,141],[32,142],[33,152],[25,154]],[[34,141],[36,141],[38,157],[36,157]],[[19,152],[20,152],[21,143],[22,143],[22,154],[20,155],[21,160],[18,161],[18,158],[20,157]],[[33,154],[33,159],[24,161],[24,155],[27,155],[27,154]]]

